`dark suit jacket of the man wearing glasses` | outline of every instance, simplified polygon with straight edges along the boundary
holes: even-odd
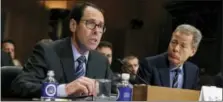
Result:
[[[41,95],[41,84],[47,77],[48,70],[54,70],[55,79],[60,83],[69,83],[76,79],[71,39],[65,38],[55,42],[39,42],[33,55],[28,59],[23,72],[12,83],[13,92],[22,97]],[[86,77],[110,79],[112,72],[108,60],[95,51],[90,51]]]

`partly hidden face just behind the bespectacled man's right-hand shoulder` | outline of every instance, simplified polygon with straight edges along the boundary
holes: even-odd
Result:
[[[105,57],[108,58],[109,64],[112,63],[112,50],[109,47],[101,47],[97,48],[97,51],[103,54]]]

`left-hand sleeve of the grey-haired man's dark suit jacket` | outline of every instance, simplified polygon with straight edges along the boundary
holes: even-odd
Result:
[[[146,59],[140,61],[140,67],[137,72],[137,84],[151,84],[152,81],[152,67]]]

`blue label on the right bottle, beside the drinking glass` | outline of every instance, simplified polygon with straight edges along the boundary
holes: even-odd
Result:
[[[117,101],[131,101],[131,100],[132,100],[132,88],[118,87]]]

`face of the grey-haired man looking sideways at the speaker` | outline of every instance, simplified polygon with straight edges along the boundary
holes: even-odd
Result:
[[[171,64],[179,66],[196,52],[193,35],[174,32],[168,47],[168,59]]]

